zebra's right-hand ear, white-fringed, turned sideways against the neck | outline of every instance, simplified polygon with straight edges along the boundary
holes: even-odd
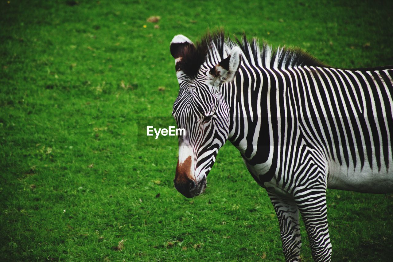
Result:
[[[242,61],[241,49],[238,46],[232,48],[227,58],[211,68],[208,72],[208,79],[211,85],[230,83],[236,76]]]

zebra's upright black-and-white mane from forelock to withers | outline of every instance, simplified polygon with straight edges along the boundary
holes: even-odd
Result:
[[[326,66],[318,59],[301,50],[300,48],[279,47],[272,49],[266,42],[259,44],[257,39],[248,41],[243,33],[242,38],[235,37],[232,41],[225,36],[224,30],[207,32],[194,46],[184,48],[181,57],[181,69],[187,76],[194,78],[198,74],[200,66],[206,61],[212,50],[218,52],[221,59],[228,55],[228,50],[239,46],[243,52],[243,58],[248,63],[265,68],[292,68],[295,66]],[[219,61],[218,61],[219,62]]]

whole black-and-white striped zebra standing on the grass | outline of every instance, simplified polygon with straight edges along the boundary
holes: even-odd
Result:
[[[340,69],[296,48],[222,30],[170,45],[179,93],[174,186],[202,194],[229,140],[277,214],[286,261],[299,261],[299,214],[316,261],[330,261],[326,189],[393,192],[393,66]]]

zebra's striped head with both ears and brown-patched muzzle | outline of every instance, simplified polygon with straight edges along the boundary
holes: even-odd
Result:
[[[179,94],[173,105],[179,136],[179,158],[174,186],[185,197],[202,194],[218,150],[228,139],[229,104],[222,95],[241,63],[241,50],[228,50],[225,59],[209,48],[208,41],[193,44],[184,35],[171,42]]]

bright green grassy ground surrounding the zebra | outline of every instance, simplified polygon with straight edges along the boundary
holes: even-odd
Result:
[[[225,26],[331,66],[388,65],[387,2],[2,0],[0,259],[283,260],[267,194],[233,146],[206,194],[185,199],[176,145],[138,146],[136,119],[171,114],[178,33]],[[391,259],[391,194],[329,190],[328,203],[335,261]]]

